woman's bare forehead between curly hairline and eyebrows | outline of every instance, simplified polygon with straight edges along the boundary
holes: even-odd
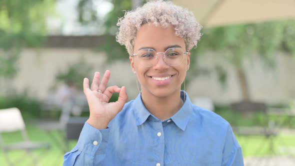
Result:
[[[170,45],[180,45],[185,49],[184,39],[175,35],[172,25],[161,27],[152,23],[145,23],[136,32],[134,51],[136,52],[141,47],[151,47],[156,51],[164,51]]]

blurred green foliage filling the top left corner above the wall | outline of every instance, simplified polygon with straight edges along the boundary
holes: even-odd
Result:
[[[24,46],[39,46],[54,0],[0,0],[0,77],[12,77]]]

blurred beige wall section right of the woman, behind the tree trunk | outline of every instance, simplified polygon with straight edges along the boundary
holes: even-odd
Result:
[[[213,67],[213,63],[221,63],[228,71],[227,87],[223,88],[212,76],[196,77],[187,91],[192,96],[206,96],[215,102],[228,103],[240,99],[237,77],[232,66],[222,59],[214,59],[213,53],[208,53],[199,59],[202,65]],[[276,67],[266,67],[259,58],[245,61],[246,76],[252,100],[267,103],[288,103],[295,99],[295,58],[277,52],[275,56]]]

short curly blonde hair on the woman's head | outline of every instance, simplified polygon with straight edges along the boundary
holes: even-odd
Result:
[[[116,40],[126,46],[129,55],[133,54],[136,32],[144,23],[153,23],[161,27],[172,24],[176,31],[175,35],[184,38],[188,51],[196,46],[201,36],[202,26],[192,12],[170,1],[151,0],[135,10],[125,12],[125,15],[118,19],[119,31],[116,33]]]

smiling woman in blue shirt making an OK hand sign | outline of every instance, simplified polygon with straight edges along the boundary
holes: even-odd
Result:
[[[117,25],[141,92],[125,103],[126,87],[107,87],[110,71],[101,81],[95,72],[90,88],[85,78],[90,115],[64,165],[243,165],[228,122],[193,105],[180,89],[201,35],[193,14],[150,1]],[[113,92],[118,100],[108,103]]]

